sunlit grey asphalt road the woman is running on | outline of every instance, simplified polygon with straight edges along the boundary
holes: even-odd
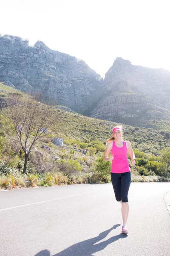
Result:
[[[0,192],[0,256],[169,256],[170,183],[131,183],[129,234],[111,184]]]

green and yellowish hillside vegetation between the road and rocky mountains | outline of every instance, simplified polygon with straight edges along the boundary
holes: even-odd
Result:
[[[102,157],[116,123],[47,106],[3,84],[1,98],[12,100],[0,113],[0,188],[111,181],[111,163]],[[136,155],[133,182],[170,181],[170,129],[159,122],[154,129],[124,125]],[[55,137],[64,145],[54,145]]]

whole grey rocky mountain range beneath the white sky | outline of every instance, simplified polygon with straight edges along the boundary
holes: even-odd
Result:
[[[0,36],[0,81],[96,119],[150,128],[155,120],[170,120],[170,72],[122,58],[116,58],[103,81],[85,61],[41,41],[31,47],[27,40],[5,35]]]

